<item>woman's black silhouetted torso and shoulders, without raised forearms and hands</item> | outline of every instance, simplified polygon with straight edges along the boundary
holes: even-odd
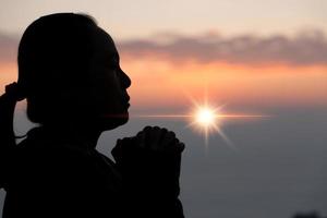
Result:
[[[56,132],[35,129],[5,164],[3,218],[119,215],[121,174],[94,148],[60,142]]]

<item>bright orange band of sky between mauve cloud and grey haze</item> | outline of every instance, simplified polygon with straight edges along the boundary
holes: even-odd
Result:
[[[185,108],[201,101],[205,89],[214,106],[326,107],[327,65],[231,64],[171,61],[162,57],[121,53],[132,78],[134,109]],[[0,66],[1,93],[16,80],[16,64]]]

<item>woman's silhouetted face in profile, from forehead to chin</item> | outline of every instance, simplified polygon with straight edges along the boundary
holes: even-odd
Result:
[[[124,124],[129,119],[130,96],[126,88],[130,87],[131,80],[120,68],[120,57],[113,40],[101,28],[94,33],[94,49],[89,65],[89,98],[94,101],[93,106],[99,107],[100,122],[112,129]]]

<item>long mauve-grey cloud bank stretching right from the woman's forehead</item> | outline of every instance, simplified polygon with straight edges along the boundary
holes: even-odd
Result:
[[[165,43],[156,40],[156,37],[122,41],[119,48],[135,57],[160,55],[173,61],[193,59],[199,62],[226,61],[241,64],[327,64],[327,38],[318,31],[298,34],[295,37],[241,35],[225,38],[217,34],[198,37],[168,36],[169,40]]]

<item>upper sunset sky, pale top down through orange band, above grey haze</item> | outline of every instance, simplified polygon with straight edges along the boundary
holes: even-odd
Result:
[[[134,109],[183,107],[205,88],[216,105],[325,107],[326,9],[324,0],[2,0],[0,84],[16,77],[17,43],[31,22],[74,11],[114,38]]]

